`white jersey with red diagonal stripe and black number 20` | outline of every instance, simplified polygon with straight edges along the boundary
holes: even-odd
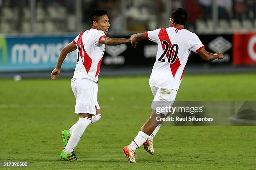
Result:
[[[202,42],[195,33],[175,27],[148,31],[146,37],[158,44],[149,85],[178,90],[189,53],[204,48]]]

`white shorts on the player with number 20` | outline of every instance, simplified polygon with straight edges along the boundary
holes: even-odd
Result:
[[[154,95],[154,99],[151,104],[152,109],[159,111],[160,108],[172,107],[174,100],[177,96],[177,90],[162,89],[155,86],[150,86],[150,88]],[[161,111],[161,113],[167,115],[168,111]]]

